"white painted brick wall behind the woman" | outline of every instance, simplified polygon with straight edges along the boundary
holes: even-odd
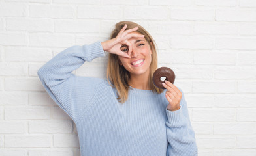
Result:
[[[0,0],[0,155],[80,155],[74,123],[37,70],[67,47],[107,40],[123,20],[145,27],[159,66],[176,73],[199,155],[255,156],[255,0]],[[106,62],[76,74],[104,77]]]

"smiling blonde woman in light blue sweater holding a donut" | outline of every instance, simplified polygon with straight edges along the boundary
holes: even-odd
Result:
[[[122,21],[111,39],[72,46],[38,71],[46,91],[76,123],[81,155],[197,155],[182,90],[153,86],[157,53],[140,25]],[[71,72],[109,53],[107,78]]]

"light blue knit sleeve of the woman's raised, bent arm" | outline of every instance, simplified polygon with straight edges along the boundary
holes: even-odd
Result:
[[[37,72],[46,92],[74,121],[79,119],[81,112],[89,108],[89,102],[103,79],[78,77],[71,72],[85,61],[91,62],[103,56],[101,42],[76,45],[57,54]]]

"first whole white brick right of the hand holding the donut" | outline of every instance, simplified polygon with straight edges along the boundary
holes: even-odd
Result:
[[[194,81],[193,93],[234,93],[235,81]]]

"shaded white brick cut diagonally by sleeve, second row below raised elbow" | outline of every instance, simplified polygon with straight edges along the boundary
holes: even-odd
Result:
[[[29,92],[29,105],[56,105],[46,92]]]

